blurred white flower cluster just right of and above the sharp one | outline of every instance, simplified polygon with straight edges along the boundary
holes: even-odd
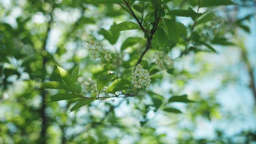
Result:
[[[173,65],[173,60],[164,52],[156,52],[155,63],[161,70],[165,70]]]

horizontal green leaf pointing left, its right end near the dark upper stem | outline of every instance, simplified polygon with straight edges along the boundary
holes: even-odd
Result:
[[[140,27],[131,21],[121,22],[120,24],[117,24],[113,26],[110,30],[112,31],[125,31],[125,30],[135,30],[140,29]]]

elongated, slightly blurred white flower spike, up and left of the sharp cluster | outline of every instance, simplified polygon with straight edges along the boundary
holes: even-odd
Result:
[[[90,39],[86,43],[89,46],[89,50],[92,50],[92,59],[103,58],[104,60],[109,61],[112,58],[109,50],[103,48],[103,45],[100,42]]]

